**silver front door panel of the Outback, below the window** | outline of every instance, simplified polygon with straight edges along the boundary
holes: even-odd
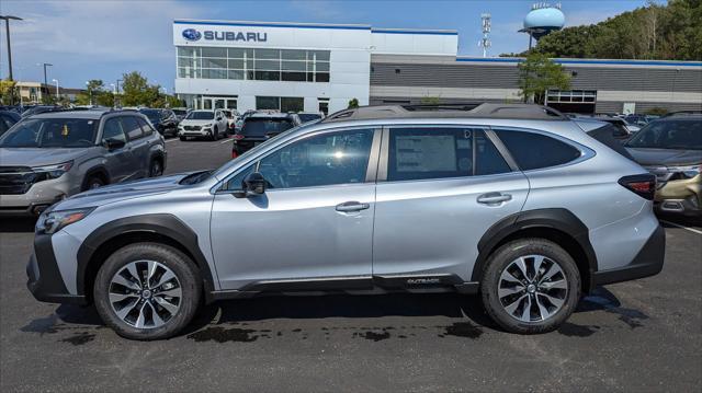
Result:
[[[223,289],[261,280],[371,276],[375,186],[217,194],[212,245]],[[340,212],[347,201],[369,204]]]

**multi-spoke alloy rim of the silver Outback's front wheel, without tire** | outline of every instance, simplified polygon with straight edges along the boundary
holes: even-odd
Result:
[[[163,326],[180,310],[182,287],[176,274],[155,261],[135,261],[114,274],[110,304],[124,323],[136,328]]]

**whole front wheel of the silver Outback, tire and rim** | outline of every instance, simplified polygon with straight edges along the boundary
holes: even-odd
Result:
[[[118,335],[141,340],[171,337],[197,311],[202,284],[192,261],[157,243],[120,248],[100,267],[95,308]]]

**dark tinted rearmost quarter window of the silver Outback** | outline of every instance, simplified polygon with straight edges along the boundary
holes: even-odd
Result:
[[[565,164],[580,157],[580,151],[545,135],[495,130],[522,171]]]

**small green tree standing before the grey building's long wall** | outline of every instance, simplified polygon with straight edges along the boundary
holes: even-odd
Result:
[[[543,104],[548,89],[570,90],[570,76],[546,55],[532,51],[517,67],[520,95],[524,102]]]

